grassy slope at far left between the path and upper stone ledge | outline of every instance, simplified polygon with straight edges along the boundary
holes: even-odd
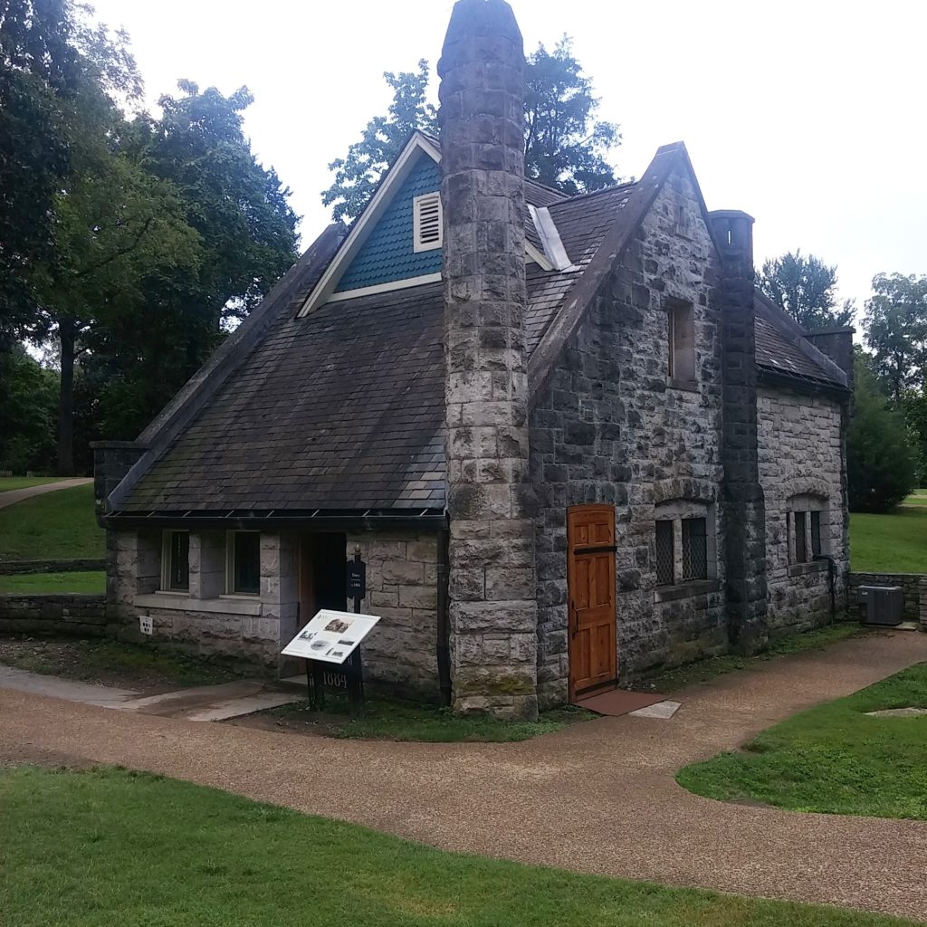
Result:
[[[102,557],[105,539],[94,517],[91,483],[0,509],[0,560]]]

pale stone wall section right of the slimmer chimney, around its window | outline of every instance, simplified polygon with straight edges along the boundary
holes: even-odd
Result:
[[[760,387],[757,408],[767,513],[769,625],[803,630],[830,620],[830,578],[824,563],[810,572],[790,565],[786,513],[796,495],[827,501],[822,552],[836,563],[835,597],[837,609],[843,611],[849,569],[843,410],[836,400],[778,387]]]

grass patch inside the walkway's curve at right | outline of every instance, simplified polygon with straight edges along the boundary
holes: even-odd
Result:
[[[927,820],[927,715],[868,717],[927,708],[927,664],[790,717],[740,753],[679,770],[690,791],[794,811]]]

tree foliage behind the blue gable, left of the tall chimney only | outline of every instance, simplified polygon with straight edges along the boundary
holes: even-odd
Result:
[[[387,70],[383,78],[393,89],[387,115],[369,121],[361,133],[361,141],[349,147],[347,157],[337,158],[328,165],[329,171],[335,171],[335,183],[323,191],[322,203],[332,207],[336,222],[361,214],[380,177],[415,130],[438,134],[438,112],[425,99],[428,91],[425,58],[418,62],[418,70],[398,74]]]

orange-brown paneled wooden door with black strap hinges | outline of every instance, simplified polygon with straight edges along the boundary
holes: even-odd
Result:
[[[616,684],[615,508],[577,505],[566,513],[570,701]]]

